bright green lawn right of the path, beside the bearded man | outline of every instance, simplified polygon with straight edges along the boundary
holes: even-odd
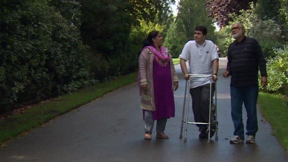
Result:
[[[288,108],[279,95],[259,93],[258,103],[265,119],[271,124],[273,135],[288,153]]]

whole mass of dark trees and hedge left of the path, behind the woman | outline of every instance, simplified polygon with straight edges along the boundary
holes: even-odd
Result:
[[[175,0],[0,1],[0,106],[69,93],[137,69]],[[1,110],[0,110],[1,111]]]

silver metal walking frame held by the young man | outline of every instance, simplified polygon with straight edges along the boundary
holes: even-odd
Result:
[[[210,98],[209,98],[209,123],[202,123],[202,122],[189,122],[188,120],[188,112],[189,112],[189,90],[190,90],[190,83],[192,78],[209,78],[210,79]],[[189,79],[186,81],[185,86],[185,96],[184,96],[184,104],[183,104],[183,112],[182,112],[182,119],[181,119],[181,130],[180,130],[180,139],[182,139],[182,132],[183,132],[183,123],[185,123],[185,135],[184,135],[184,142],[187,142],[187,125],[188,124],[202,124],[208,125],[208,140],[207,143],[210,143],[210,125],[211,125],[211,95],[212,95],[212,78],[213,75],[203,75],[203,74],[189,74]],[[184,120],[186,108],[186,120]],[[215,120],[216,120],[216,128],[215,128],[215,140],[218,140],[218,121],[217,121],[217,86],[215,82]]]

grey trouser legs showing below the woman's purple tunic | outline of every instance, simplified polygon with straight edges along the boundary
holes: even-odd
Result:
[[[157,120],[156,125],[156,132],[164,132],[165,126],[166,126],[167,118],[162,118]],[[145,133],[152,134],[153,126],[154,126],[154,120],[153,120],[153,114],[152,111],[145,111],[144,116],[144,123],[145,123]]]

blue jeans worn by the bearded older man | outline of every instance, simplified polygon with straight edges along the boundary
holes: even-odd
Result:
[[[247,112],[247,135],[255,136],[258,130],[256,104],[258,99],[258,86],[230,87],[231,116],[234,123],[234,135],[244,139],[244,126],[242,121],[242,105]]]

